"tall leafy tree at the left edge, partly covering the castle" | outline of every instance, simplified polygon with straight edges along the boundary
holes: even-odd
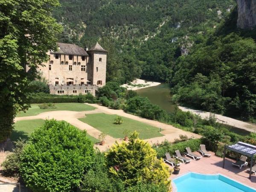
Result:
[[[48,60],[47,51],[57,48],[56,6],[58,0],[0,0],[0,143],[11,135],[17,111],[29,107],[28,80]]]

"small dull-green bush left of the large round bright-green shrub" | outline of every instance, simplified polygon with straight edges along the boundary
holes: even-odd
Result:
[[[25,140],[17,140],[14,142],[15,149],[12,153],[8,154],[6,160],[2,163],[3,173],[6,176],[19,177],[20,170],[20,155],[23,148],[26,146]]]

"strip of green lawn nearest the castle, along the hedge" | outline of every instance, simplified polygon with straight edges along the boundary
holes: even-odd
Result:
[[[17,117],[34,116],[47,111],[90,111],[95,109],[95,107],[83,103],[55,103],[55,109],[40,109],[38,105],[31,104],[31,108],[26,113],[20,112],[17,114]]]

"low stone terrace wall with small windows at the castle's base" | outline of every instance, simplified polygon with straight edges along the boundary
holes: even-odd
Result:
[[[98,86],[95,85],[49,85],[50,93],[55,95],[79,95],[91,93],[95,96]],[[64,91],[64,92],[63,92]]]

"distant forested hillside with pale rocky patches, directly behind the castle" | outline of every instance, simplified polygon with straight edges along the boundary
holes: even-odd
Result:
[[[108,49],[107,80],[169,81],[182,52],[204,41],[235,0],[60,0],[59,40]]]

